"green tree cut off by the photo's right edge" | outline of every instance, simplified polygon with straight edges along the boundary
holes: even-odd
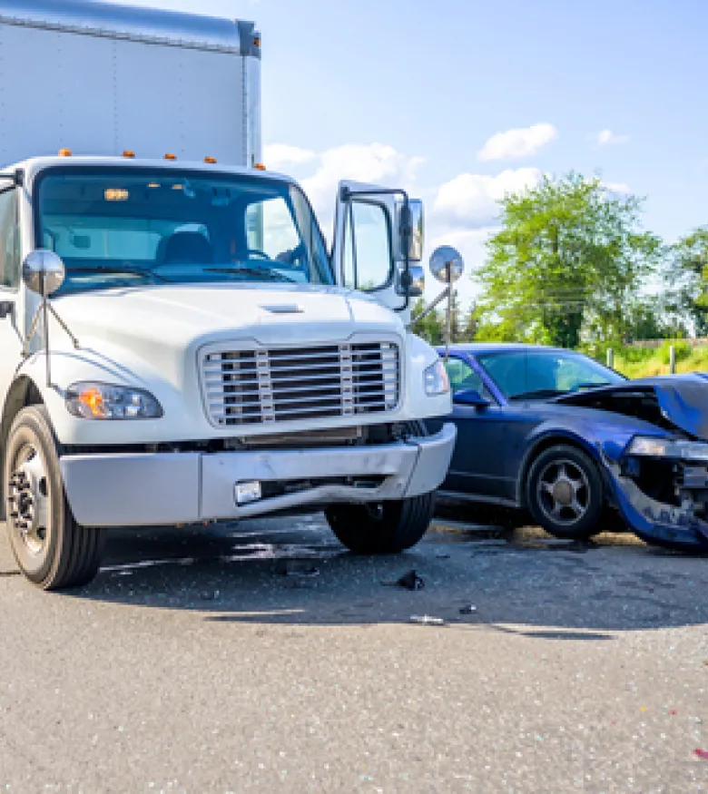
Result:
[[[678,323],[688,322],[696,336],[708,334],[708,226],[687,234],[671,248],[666,309]]]

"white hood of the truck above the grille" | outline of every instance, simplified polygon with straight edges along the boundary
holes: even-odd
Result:
[[[354,334],[405,335],[394,312],[335,287],[160,285],[66,295],[53,303],[81,348],[178,389],[195,379],[197,352],[206,344],[298,347],[336,344]],[[54,348],[70,346],[58,327],[52,340]]]

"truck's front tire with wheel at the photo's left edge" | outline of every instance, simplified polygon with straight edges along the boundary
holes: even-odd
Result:
[[[74,519],[44,406],[24,408],[15,417],[5,448],[3,486],[10,545],[26,578],[44,590],[91,582],[101,564],[105,531]]]

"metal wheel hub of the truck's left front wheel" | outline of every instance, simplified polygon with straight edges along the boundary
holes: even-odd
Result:
[[[31,554],[44,549],[49,516],[49,495],[44,461],[34,446],[27,446],[15,460],[7,489],[10,524]]]

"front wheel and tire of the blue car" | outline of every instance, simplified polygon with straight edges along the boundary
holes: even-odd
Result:
[[[552,446],[528,470],[526,505],[547,533],[588,540],[601,531],[602,477],[590,457],[575,446]]]

